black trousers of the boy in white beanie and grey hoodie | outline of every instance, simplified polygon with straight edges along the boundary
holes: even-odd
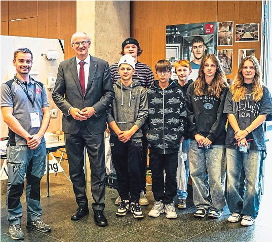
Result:
[[[122,200],[139,202],[140,199],[140,161],[142,158],[141,142],[123,143],[113,135],[109,139],[112,162],[117,175],[118,192]]]

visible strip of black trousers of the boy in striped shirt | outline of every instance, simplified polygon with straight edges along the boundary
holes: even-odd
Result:
[[[146,165],[147,165],[147,139],[146,133],[142,128],[143,136],[142,136],[142,159],[140,162],[140,170],[141,170],[141,191],[146,191]]]

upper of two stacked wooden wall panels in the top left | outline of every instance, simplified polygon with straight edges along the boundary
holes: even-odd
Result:
[[[9,20],[37,16],[37,1],[9,1]]]

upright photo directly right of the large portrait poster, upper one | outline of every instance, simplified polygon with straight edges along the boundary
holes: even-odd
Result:
[[[234,21],[218,22],[217,46],[232,46]]]

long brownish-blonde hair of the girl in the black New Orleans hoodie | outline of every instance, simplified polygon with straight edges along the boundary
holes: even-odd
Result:
[[[216,64],[216,72],[214,78],[212,80],[211,85],[209,85],[207,89],[207,93],[204,93],[205,87],[205,74],[204,74],[204,64],[207,59],[211,59]],[[220,60],[215,54],[207,54],[201,60],[200,68],[199,68],[199,77],[193,83],[195,87],[195,94],[197,96],[202,96],[207,94],[208,96],[215,96],[217,98],[220,97],[221,92],[227,86],[226,76],[220,64]]]

